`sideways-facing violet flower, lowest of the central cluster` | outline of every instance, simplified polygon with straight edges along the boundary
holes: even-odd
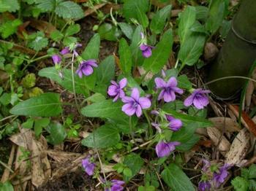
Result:
[[[165,143],[164,141],[160,141],[156,146],[157,157],[167,157],[170,155],[170,152],[173,152],[176,146],[181,143],[178,141],[173,141],[169,143]]]

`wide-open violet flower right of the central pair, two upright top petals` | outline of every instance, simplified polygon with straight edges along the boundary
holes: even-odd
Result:
[[[168,82],[165,82],[164,79],[157,77],[156,79],[154,79],[154,82],[157,85],[157,89],[162,89],[158,95],[158,100],[164,98],[165,102],[175,101],[175,93],[183,93],[183,90],[177,87],[178,82],[175,77],[170,77]]]

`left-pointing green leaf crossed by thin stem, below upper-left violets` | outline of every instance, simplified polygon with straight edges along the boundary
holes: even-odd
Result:
[[[73,92],[72,85],[72,71],[70,69],[62,69],[63,79],[59,77],[59,71],[55,69],[55,67],[48,67],[45,69],[41,69],[38,73],[40,77],[48,77],[54,82],[59,83],[62,87],[65,87],[70,92]],[[75,77],[75,92],[83,93],[83,95],[87,95],[88,90],[92,90],[94,88],[96,82],[96,75],[91,74],[89,77],[78,77],[78,74],[74,74]]]

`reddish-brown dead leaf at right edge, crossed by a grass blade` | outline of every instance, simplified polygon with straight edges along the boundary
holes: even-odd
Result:
[[[233,106],[231,104],[227,104],[227,106],[230,108],[230,110],[236,115],[236,117],[239,117],[239,107]],[[256,124],[251,120],[251,118],[246,114],[246,112],[242,111],[241,113],[241,123],[246,127],[249,132],[251,132],[254,136],[256,136]]]

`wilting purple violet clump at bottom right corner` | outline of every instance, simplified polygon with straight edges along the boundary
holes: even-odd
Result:
[[[228,169],[230,165],[224,164],[218,166],[217,164],[211,164],[208,160],[203,160],[202,177],[198,183],[198,190],[208,191],[212,186],[218,188],[220,184],[225,182],[228,176]]]

